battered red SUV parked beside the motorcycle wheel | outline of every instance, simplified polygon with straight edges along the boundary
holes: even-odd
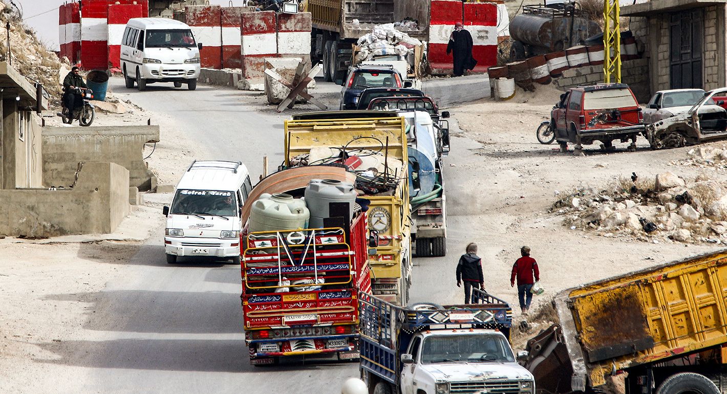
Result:
[[[631,140],[629,150],[636,150],[636,137],[644,132],[643,112],[627,84],[569,89],[553,107],[550,124],[561,152],[571,142],[576,154],[582,154],[582,145],[596,140],[602,149],[612,149],[614,140]]]

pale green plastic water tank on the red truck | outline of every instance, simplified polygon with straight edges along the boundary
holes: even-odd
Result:
[[[300,198],[284,193],[263,193],[252,203],[249,231],[308,228],[309,219],[310,211]]]

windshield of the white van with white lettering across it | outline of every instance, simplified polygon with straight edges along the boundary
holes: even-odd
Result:
[[[170,214],[237,216],[235,193],[221,190],[177,190]]]

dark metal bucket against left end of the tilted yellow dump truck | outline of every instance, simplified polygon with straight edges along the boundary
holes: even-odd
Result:
[[[525,347],[528,355],[520,363],[535,377],[538,393],[570,393],[573,367],[558,324],[540,331]]]

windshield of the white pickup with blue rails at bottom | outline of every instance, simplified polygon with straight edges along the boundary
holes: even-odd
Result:
[[[434,335],[422,345],[422,363],[513,363],[505,338],[496,334]]]

